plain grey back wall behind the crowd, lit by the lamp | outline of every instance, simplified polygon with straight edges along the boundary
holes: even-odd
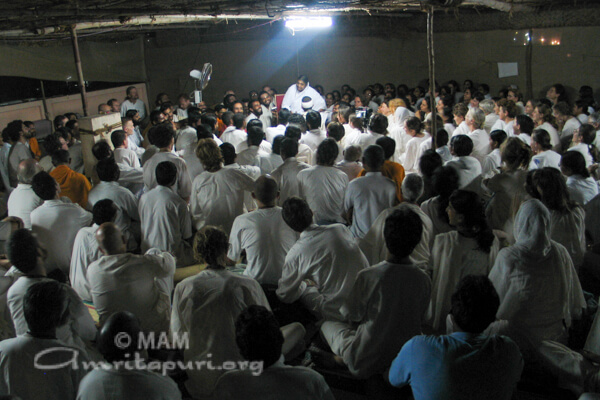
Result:
[[[436,73],[443,83],[465,79],[490,85],[492,93],[502,86],[517,84],[526,88],[525,31],[436,33]],[[160,33],[159,33],[160,34]],[[357,32],[359,35],[359,32]],[[534,30],[534,39],[558,38],[560,46],[534,45],[533,88],[541,97],[557,82],[574,92],[581,85],[600,89],[600,27]],[[517,40],[515,40],[517,39]],[[157,43],[158,42],[158,43]],[[369,83],[393,82],[415,86],[427,78],[427,52],[422,33],[390,37],[347,37],[287,31],[269,40],[228,40],[177,46],[160,41],[147,43],[146,67],[150,97],[161,91],[172,98],[190,92],[188,73],[205,62],[213,64],[213,78],[204,93],[209,103],[217,103],[227,89],[243,97],[251,89],[270,84],[284,92],[298,71],[326,91],[344,83],[362,90]],[[539,42],[536,42],[539,43]],[[547,43],[547,42],[546,42]],[[298,57],[296,57],[296,52]],[[518,62],[519,75],[498,78],[498,62]],[[573,94],[574,96],[574,94]]]

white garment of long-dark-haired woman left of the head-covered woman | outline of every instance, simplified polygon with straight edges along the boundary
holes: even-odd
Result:
[[[479,248],[474,238],[457,231],[439,234],[431,248],[430,268],[433,270],[431,302],[427,323],[435,331],[446,332],[446,317],[450,299],[460,280],[467,275],[488,275],[500,250],[500,241],[494,238],[490,252]]]

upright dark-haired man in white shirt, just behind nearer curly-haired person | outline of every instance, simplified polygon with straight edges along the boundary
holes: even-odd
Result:
[[[182,267],[194,262],[190,245],[192,218],[187,203],[172,190],[177,174],[172,162],[158,164],[155,171],[158,186],[142,196],[139,212],[142,252],[151,248],[168,251],[177,258],[177,266]]]

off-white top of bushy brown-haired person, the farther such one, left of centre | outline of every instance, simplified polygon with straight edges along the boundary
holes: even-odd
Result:
[[[204,171],[192,183],[190,212],[196,229],[223,228],[229,235],[233,221],[244,212],[244,191],[254,190],[254,180],[240,170]]]

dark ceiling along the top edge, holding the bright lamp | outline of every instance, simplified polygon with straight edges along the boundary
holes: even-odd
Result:
[[[600,7],[598,3],[597,0],[2,0],[0,1],[0,36],[10,35],[18,38],[21,35],[42,36],[49,33],[56,34],[56,32],[64,34],[68,32],[68,26],[82,23],[101,23],[84,29],[100,29],[103,26],[127,27],[128,24],[138,28],[160,29],[161,25],[167,23],[165,16],[181,17],[182,15],[214,17],[208,21],[195,21],[196,24],[202,22],[214,24],[225,19],[231,21],[237,18],[240,21],[251,18],[268,21],[286,15],[315,11],[334,16],[390,18],[406,13],[420,13],[431,4],[447,10],[446,14],[455,16],[497,14],[499,16],[494,17],[496,19],[524,17],[535,19],[540,13],[553,13],[560,19],[562,13],[572,12],[574,7],[594,9]],[[146,19],[144,22],[137,20],[140,17],[158,19],[154,21]],[[597,18],[594,18],[594,21],[596,20]],[[175,21],[173,27],[186,27],[189,23],[189,21],[179,23]],[[557,23],[557,25],[569,24],[572,23],[568,18],[567,21]],[[600,22],[596,21],[594,24]]]

